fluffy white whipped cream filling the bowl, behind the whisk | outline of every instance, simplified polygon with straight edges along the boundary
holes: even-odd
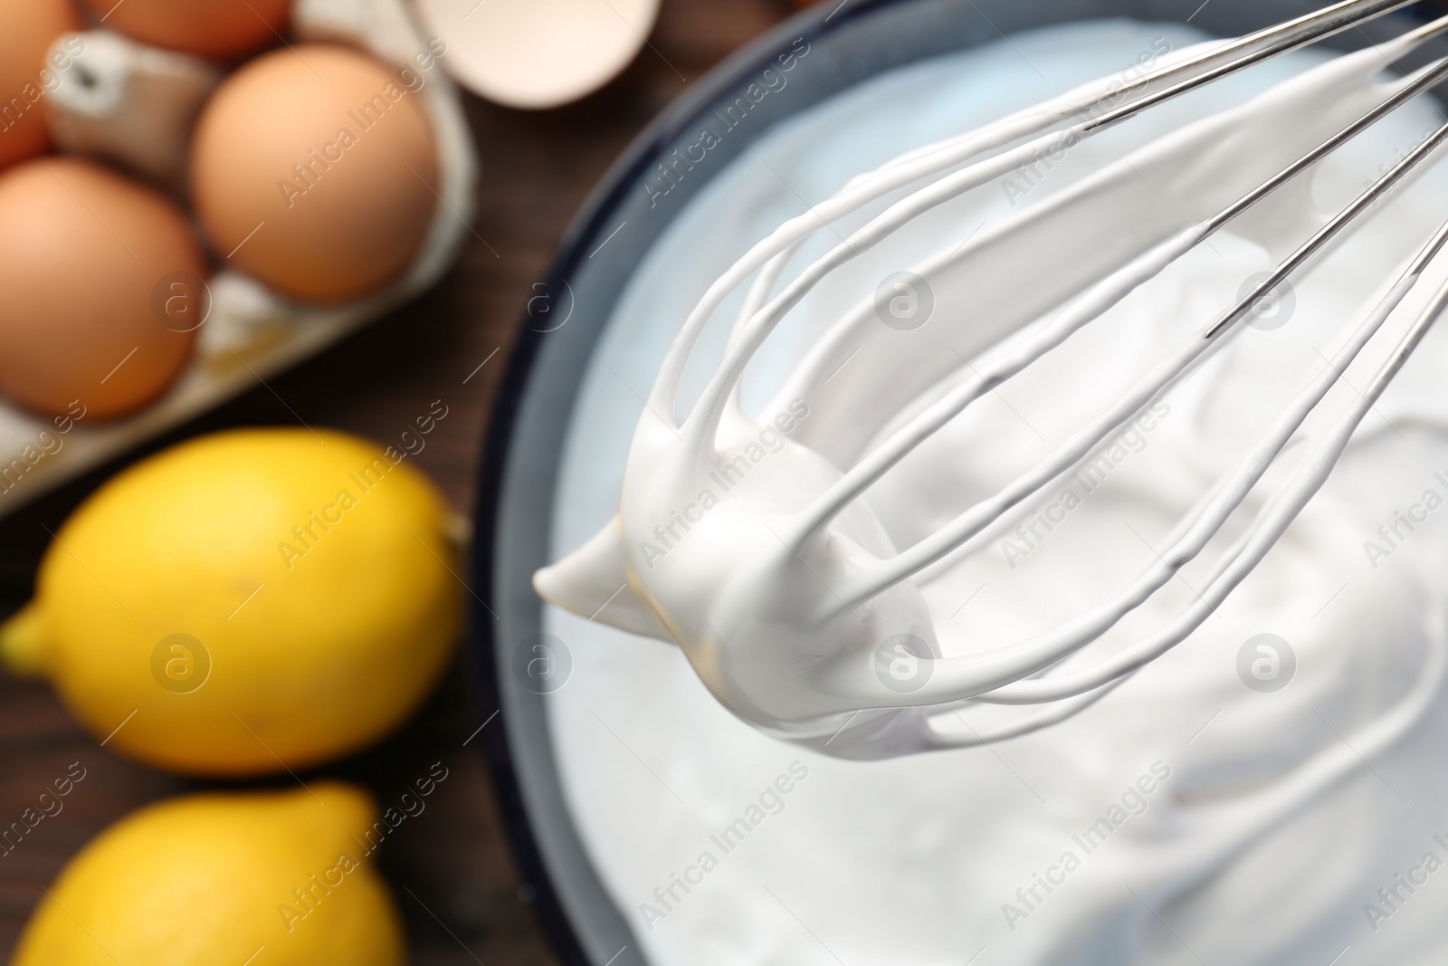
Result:
[[[559,556],[617,511],[623,455],[640,420],[634,392],[653,382],[681,320],[738,255],[801,213],[801,197],[824,201],[904,149],[1199,39],[1180,26],[1125,22],[1022,35],[891,72],[762,138],[678,219],[620,301],[599,346],[608,365],[582,388],[565,453]],[[1215,211],[1384,96],[1361,70],[1357,80],[1348,68],[1329,70],[1344,80],[1289,88],[1297,101],[1261,101],[1279,113],[1261,109],[1261,123],[1247,123],[1238,139],[1202,138],[1200,129],[1196,140],[1187,136],[1189,122],[1323,59],[1302,52],[1273,61],[1082,140],[1030,182],[1008,175],[948,201],[827,277],[744,369],[740,411],[750,419],[724,420],[727,459],[650,507],[668,547],[643,542],[665,556],[630,545],[630,566],[708,584],[699,575],[711,574],[710,549],[720,556],[728,545],[718,533],[738,527],[731,503],[788,504],[791,492],[818,492],[898,426],[902,410],[931,401],[930,387],[948,390],[941,379],[961,359],[985,365],[990,343],[1022,326],[1030,333],[1061,291],[1099,277],[1112,258],[1119,264],[1121,246],[1142,251]],[[1299,133],[1297,116],[1322,130]],[[880,556],[909,547],[1030,469],[1438,123],[1428,103],[1394,112],[947,423],[863,494],[862,546],[870,550],[873,540]],[[1190,149],[1151,154],[1164,135]],[[1031,220],[1028,213],[1053,206],[1066,216]],[[988,224],[1002,216],[1024,227]],[[908,587],[921,621],[914,627],[925,631],[918,636],[944,658],[985,653],[1040,634],[1128,582],[1445,217],[1442,171],[1397,188],[1370,222],[1293,277],[1290,294],[1164,395],[1150,424],[1124,427],[1085,475],[1058,481],[1034,516],[1011,520],[976,553],[918,574]],[[805,242],[798,264],[833,243]],[[1002,269],[1012,264],[1030,271]],[[901,271],[928,281],[934,314],[918,327],[873,313],[877,287]],[[717,313],[723,323],[701,330],[695,358],[679,372],[685,406],[707,391],[744,297],[730,295]],[[1384,346],[1425,298],[1409,295],[1386,322]],[[831,335],[841,319],[854,343]],[[1347,384],[1328,394],[1325,419],[1351,403],[1352,387],[1384,352],[1370,346],[1350,366]],[[1444,727],[1434,698],[1448,545],[1434,534],[1441,524],[1428,492],[1438,501],[1448,494],[1435,475],[1448,472],[1448,398],[1436,391],[1445,353],[1448,342],[1431,333],[1323,490],[1184,643],[1079,715],[1015,742],[835,760],[775,742],[721,707],[710,691],[738,695],[728,675],[711,678],[699,652],[689,653],[691,665],[673,644],[601,626],[656,637],[678,630],[662,629],[657,611],[604,608],[589,623],[550,610],[549,630],[573,656],[568,686],[549,697],[565,788],[650,959],[924,965],[979,953],[979,963],[1325,963],[1351,946],[1339,962],[1434,962],[1448,886],[1435,898],[1436,881],[1425,879],[1410,905],[1400,886],[1393,901],[1390,886],[1400,870],[1422,870],[1425,853],[1448,856],[1434,839],[1448,831],[1448,781],[1429,768]],[[788,430],[779,414],[792,414]],[[1316,419],[1309,432],[1322,426]],[[791,442],[775,450],[776,436]],[[795,448],[817,462],[786,455],[798,456]],[[738,456],[747,474],[737,466],[731,492],[702,511],[698,484]],[[673,523],[675,513],[691,529]],[[1225,540],[1241,530],[1229,529]],[[1193,579],[1208,571],[1183,571],[1082,660],[1121,653],[1190,607]],[[669,617],[685,626],[689,614]],[[1290,679],[1264,691],[1284,660]],[[733,700],[730,707],[740,710]],[[756,701],[753,710],[757,718],[746,717],[775,733],[824,720],[821,708],[798,715],[788,701]],[[969,739],[1018,714],[972,707],[933,727]],[[811,737],[827,744],[831,736]],[[808,781],[792,775],[796,762]],[[714,837],[780,775],[794,786],[775,797],[779,811],[766,812],[767,823],[746,815],[749,836],[720,849]]]

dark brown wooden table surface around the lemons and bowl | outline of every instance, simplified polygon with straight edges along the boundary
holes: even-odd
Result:
[[[0,521],[0,616],[29,597],[46,527],[56,529],[122,466],[198,433],[300,419],[391,442],[440,398],[449,416],[427,437],[416,465],[432,474],[455,507],[471,513],[482,432],[518,317],[575,209],[688,81],[795,6],[663,0],[650,46],[598,94],[546,113],[469,98],[484,178],[476,236],[447,278],[324,355]],[[475,746],[462,747],[471,723],[459,662],[459,673],[447,676],[401,733],[317,773],[358,781],[390,801],[432,762],[440,759],[450,769],[426,812],[404,823],[382,853],[416,966],[555,963],[518,886],[485,768]],[[71,762],[81,762],[88,775],[64,811],[0,859],[0,950],[7,959],[42,886],[96,833],[145,802],[201,786],[111,755],[71,721],[46,685],[0,675],[0,826],[19,820]]]

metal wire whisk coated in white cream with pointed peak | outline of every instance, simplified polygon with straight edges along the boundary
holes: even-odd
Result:
[[[1105,411],[1092,414],[1054,452],[935,533],[896,552],[862,494],[982,395],[1264,200],[1289,185],[1300,188],[1303,172],[1448,78],[1445,58],[1393,83],[1367,83],[1384,62],[1448,30],[1448,19],[1313,68],[1309,75],[1316,87],[1297,80],[1263,94],[1250,117],[1271,136],[1251,140],[1248,151],[1242,151],[1241,140],[1253,133],[1245,130],[1248,114],[1241,109],[1224,112],[1108,167],[1051,204],[1008,216],[954,252],[922,265],[924,275],[972,259],[979,271],[1008,269],[1031,230],[1061,219],[1092,191],[1119,188],[1141,177],[1142,165],[1150,167],[1153,159],[1200,158],[1195,174],[1189,172],[1189,180],[1197,178],[1195,210],[1173,209],[1176,223],[1148,226],[1131,251],[1085,245],[1074,274],[1030,287],[1011,311],[972,319],[969,337],[976,348],[996,349],[976,365],[959,350],[915,350],[919,372],[909,385],[872,387],[877,392],[870,395],[869,408],[880,413],[872,427],[886,430],[873,448],[866,446],[875,436],[870,432],[841,436],[847,437],[843,443],[821,443],[818,450],[795,440],[747,475],[731,469],[760,433],[795,421],[786,414],[789,400],[809,400],[821,413],[815,419],[828,419],[818,401],[825,374],[859,342],[875,317],[873,306],[863,304],[840,319],[791,374],[776,395],[783,408],[766,408],[782,413],[778,427],[743,414],[741,372],[766,336],[821,280],[931,209],[1058,158],[1154,106],[1405,6],[1402,0],[1335,3],[1257,33],[1193,48],[1135,80],[1105,78],[1079,87],[982,129],[901,155],[785,222],[725,271],[683,322],[636,429],[618,516],[584,547],[537,572],[534,587],[540,595],[584,617],[678,643],[704,684],[734,714],[770,734],[843,757],[888,757],[996,742],[1056,724],[1102,700],[1192,634],[1267,555],[1448,307],[1448,282],[1426,300],[1370,385],[1310,440],[1286,481],[1261,500],[1244,533],[1211,562],[1195,600],[1144,639],[1095,663],[1070,669],[1060,665],[1203,553],[1268,469],[1280,463],[1284,446],[1309,414],[1428,274],[1429,262],[1448,243],[1448,226],[1416,252],[1376,306],[1351,320],[1321,375],[1292,398],[1237,468],[1177,523],[1156,559],[1106,601],[1047,633],[982,653],[941,658],[934,620],[912,578],[979,549],[1002,518],[1031,507],[1053,484],[1100,452],[1231,339],[1293,272],[1434,156],[1448,140],[1448,125],[1423,138],[1260,284],[1151,366]],[[1309,130],[1302,112],[1312,90],[1337,93],[1328,98],[1328,116],[1315,116],[1318,126]],[[1321,140],[1322,125],[1335,132],[1326,140]],[[889,201],[892,194],[901,197]],[[807,240],[882,200],[888,201],[882,211],[780,287],[783,269]],[[1190,222],[1186,229],[1180,227],[1183,216]],[[685,365],[724,300],[746,284],[744,307],[723,362],[681,421],[675,413]],[[947,377],[948,385],[927,398],[922,390],[941,385]],[[864,419],[863,411],[856,404],[837,420]],[[710,479],[730,485],[727,497],[717,507],[708,503],[704,514],[689,501],[708,488]],[[1037,707],[969,736],[938,727],[940,715],[977,702]]]

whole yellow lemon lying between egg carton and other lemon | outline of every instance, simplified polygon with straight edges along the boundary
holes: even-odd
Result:
[[[204,436],[65,521],[0,655],[152,766],[301,769],[381,737],[437,679],[462,616],[455,537],[395,449],[307,429]]]

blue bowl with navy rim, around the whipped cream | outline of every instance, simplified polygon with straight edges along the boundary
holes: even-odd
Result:
[[[770,126],[883,71],[998,41],[1019,30],[1096,17],[1177,20],[1231,36],[1321,9],[1300,0],[824,0],[741,49],[699,80],[623,154],[533,285],[523,332],[482,450],[473,545],[472,649],[476,743],[502,802],[514,854],[536,910],[569,966],[646,963],[633,927],[602,885],[569,814],[555,759],[546,695],[514,673],[518,649],[543,630],[531,575],[549,562],[553,492],[582,375],[633,271],[669,223]],[[1195,7],[1195,9],[1193,9]],[[1416,4],[1326,41],[1358,49],[1396,35],[1444,4]],[[702,162],[663,180],[659,165],[694,143],[776,58],[809,45],[809,67],[749,114]],[[1418,61],[1441,56],[1441,38]],[[668,188],[668,190],[665,190]],[[543,688],[540,688],[543,689]]]

